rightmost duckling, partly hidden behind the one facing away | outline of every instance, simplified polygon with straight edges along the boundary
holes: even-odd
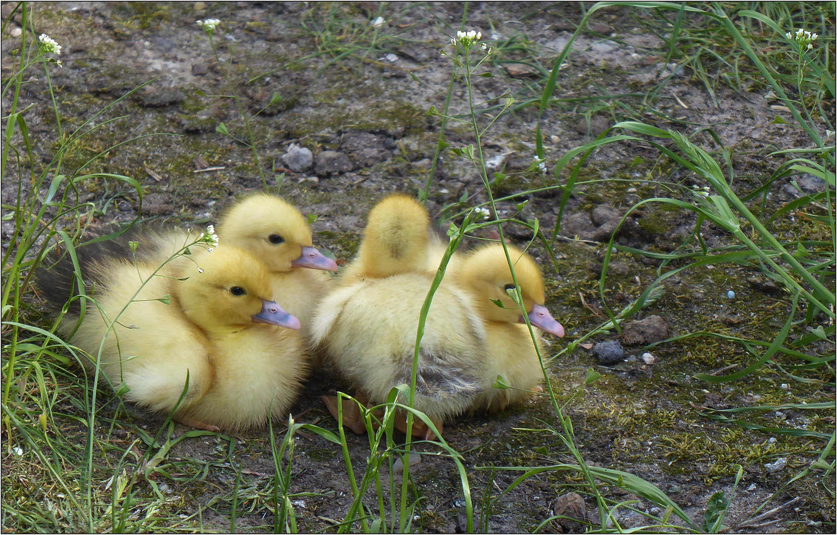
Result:
[[[532,327],[563,337],[564,328],[544,306],[543,278],[537,264],[520,249],[511,245],[506,248]],[[530,391],[542,389],[543,373],[521,308],[511,297],[515,284],[502,245],[490,244],[465,255],[451,275],[458,286],[470,292],[484,322],[489,354],[483,376],[486,390],[471,404],[470,412],[487,409],[494,414],[509,405],[521,404],[531,395]],[[491,300],[499,300],[502,307]],[[542,352],[542,339],[537,332],[536,342]],[[498,375],[512,388],[490,388]]]

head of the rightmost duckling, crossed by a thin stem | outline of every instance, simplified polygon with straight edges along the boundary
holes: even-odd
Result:
[[[543,277],[534,260],[520,249],[506,245],[511,263],[515,267],[517,283],[523,296],[529,322],[544,332],[557,337],[564,336],[564,327],[544,306]],[[506,253],[501,244],[491,244],[468,255],[460,266],[457,277],[477,298],[480,315],[492,322],[525,323],[521,310],[511,298],[515,283],[511,278]],[[491,300],[501,301],[503,307]]]

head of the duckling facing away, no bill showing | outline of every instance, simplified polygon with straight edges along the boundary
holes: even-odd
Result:
[[[412,197],[384,198],[369,213],[357,270],[373,278],[424,270],[429,227],[427,210]]]

